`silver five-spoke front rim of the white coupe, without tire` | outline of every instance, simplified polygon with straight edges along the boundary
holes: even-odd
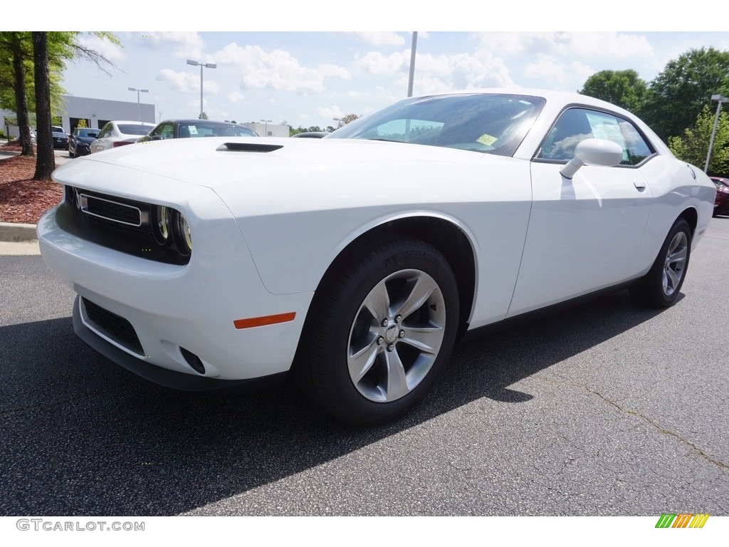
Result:
[[[347,366],[371,401],[405,397],[427,376],[445,333],[445,301],[424,271],[394,272],[364,298],[349,331]]]

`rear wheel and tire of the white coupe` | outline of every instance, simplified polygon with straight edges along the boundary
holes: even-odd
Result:
[[[690,256],[691,227],[685,219],[679,218],[668,230],[666,241],[648,273],[631,287],[631,296],[646,306],[672,306],[686,279]]]

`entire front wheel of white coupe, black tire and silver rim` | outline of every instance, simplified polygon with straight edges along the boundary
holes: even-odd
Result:
[[[456,279],[443,255],[405,236],[340,257],[308,314],[295,373],[336,418],[375,425],[432,388],[458,331]]]

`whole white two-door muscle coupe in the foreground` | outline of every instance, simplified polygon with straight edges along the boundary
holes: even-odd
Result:
[[[324,139],[154,141],[55,171],[77,334],[152,381],[295,373],[346,422],[423,399],[468,330],[607,288],[671,306],[715,188],[576,94],[408,98]]]

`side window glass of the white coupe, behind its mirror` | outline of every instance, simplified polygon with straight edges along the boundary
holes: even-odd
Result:
[[[613,141],[623,150],[620,165],[634,166],[652,155],[650,144],[628,120],[607,112],[571,108],[562,113],[537,158],[567,161],[574,157],[574,147],[585,139]]]

